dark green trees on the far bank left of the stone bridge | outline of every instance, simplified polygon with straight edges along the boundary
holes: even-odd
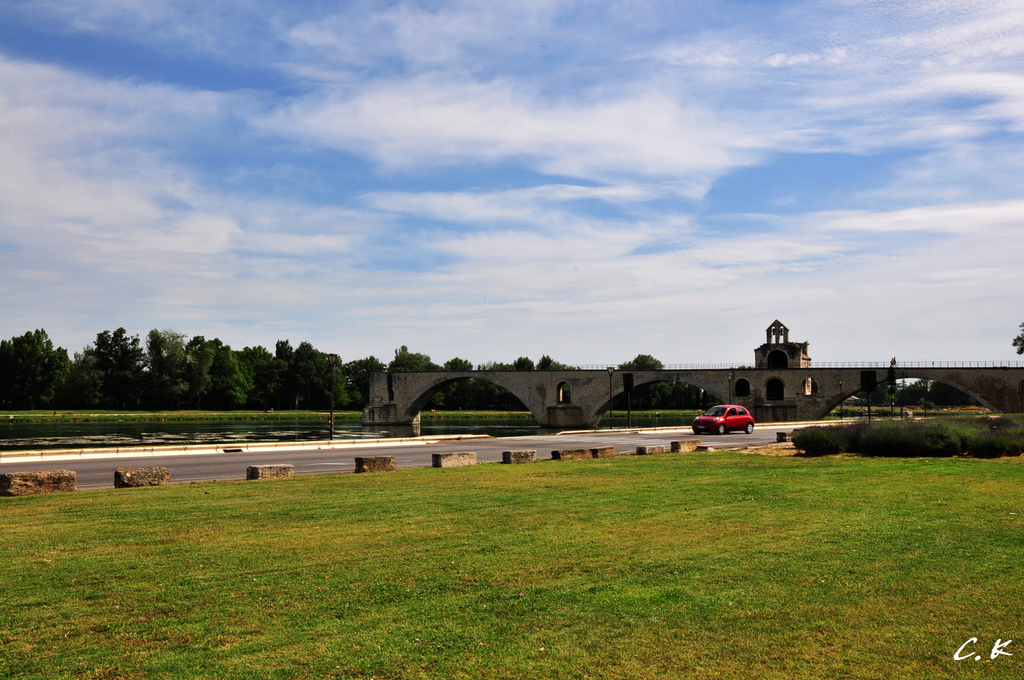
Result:
[[[362,408],[374,356],[335,367],[338,409]],[[328,354],[308,342],[279,340],[231,349],[217,338],[153,330],[140,339],[119,328],[70,357],[44,330],[0,340],[0,409],[327,409]]]

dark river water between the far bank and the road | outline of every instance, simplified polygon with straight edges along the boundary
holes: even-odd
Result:
[[[649,418],[633,420],[635,427],[687,425],[689,419]],[[615,419],[624,427],[625,418]],[[606,426],[606,423],[602,424]],[[428,422],[419,427],[336,423],[336,439],[379,439],[432,434],[486,434],[526,436],[554,433],[526,419],[461,419]],[[254,441],[318,441],[328,439],[327,423],[288,421],[183,421],[132,422],[96,419],[82,422],[0,422],[0,451],[90,449],[112,447],[164,447],[185,444],[230,444]]]

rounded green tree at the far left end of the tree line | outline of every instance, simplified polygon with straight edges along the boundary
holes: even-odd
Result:
[[[42,329],[0,340],[0,403],[30,411],[49,405],[70,374],[68,350],[53,347]]]

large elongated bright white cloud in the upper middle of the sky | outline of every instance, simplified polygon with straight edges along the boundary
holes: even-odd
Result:
[[[389,170],[516,161],[585,178],[677,177],[695,196],[759,145],[711,112],[653,91],[546,102],[509,81],[437,77],[300,99],[260,125],[366,154]]]

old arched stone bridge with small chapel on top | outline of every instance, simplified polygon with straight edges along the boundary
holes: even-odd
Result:
[[[433,371],[375,373],[365,425],[401,425],[420,421],[420,411],[434,393],[457,380],[484,380],[522,401],[544,427],[594,427],[612,401],[632,382],[698,387],[720,403],[738,403],[759,422],[808,421],[824,418],[847,397],[861,391],[861,381],[882,384],[897,379],[927,379],[955,387],[998,413],[1024,412],[1024,367],[978,366],[972,363],[914,363],[811,366],[807,342],[791,342],[790,329],[778,320],[766,330],[766,341],[754,350],[753,367],[683,368],[662,371]]]

